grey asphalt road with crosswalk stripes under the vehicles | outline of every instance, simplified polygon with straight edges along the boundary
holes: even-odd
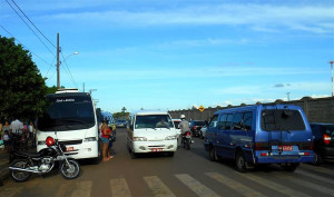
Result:
[[[194,139],[190,150],[178,149],[174,157],[146,155],[131,159],[126,131],[118,129],[111,160],[99,165],[81,161],[81,176],[75,180],[63,179],[58,170],[26,183],[7,179],[0,196],[334,196],[333,164],[301,165],[295,173],[271,166],[239,174],[230,161],[209,161],[203,139]]]

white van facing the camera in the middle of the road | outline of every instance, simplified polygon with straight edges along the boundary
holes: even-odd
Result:
[[[167,111],[138,111],[130,116],[127,146],[132,158],[145,152],[167,152],[177,149],[177,130]]]

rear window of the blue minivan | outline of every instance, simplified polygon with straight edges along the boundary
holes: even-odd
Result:
[[[262,130],[305,130],[303,117],[298,110],[266,109],[262,111]]]

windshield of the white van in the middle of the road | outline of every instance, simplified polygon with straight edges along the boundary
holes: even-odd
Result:
[[[136,129],[144,128],[173,128],[173,121],[168,115],[146,115],[136,117]]]

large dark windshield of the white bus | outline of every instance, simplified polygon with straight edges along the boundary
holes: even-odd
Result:
[[[47,112],[38,118],[40,131],[67,131],[88,129],[95,126],[91,98],[86,93],[53,93],[47,96]]]

